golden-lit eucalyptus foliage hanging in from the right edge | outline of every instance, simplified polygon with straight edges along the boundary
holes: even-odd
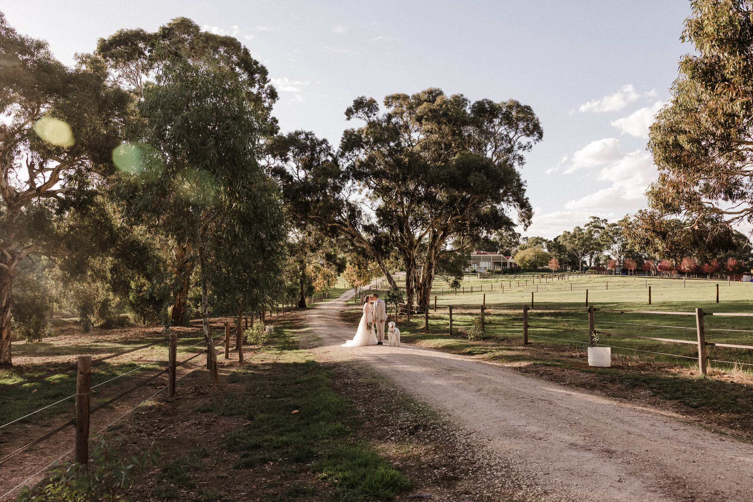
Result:
[[[648,190],[651,211],[636,224],[658,236],[668,224],[657,218],[678,219],[683,229],[731,239],[730,225],[753,222],[753,3],[691,7],[681,39],[696,53],[681,58],[672,97],[651,126],[659,178]]]

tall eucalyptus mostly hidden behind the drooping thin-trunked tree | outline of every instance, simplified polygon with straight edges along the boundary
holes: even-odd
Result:
[[[276,132],[276,120],[271,116],[272,105],[277,99],[276,90],[270,85],[267,68],[254,59],[248,48],[238,39],[228,35],[203,32],[194,21],[177,17],[160,26],[155,32],[144,29],[120,29],[108,38],[100,38],[95,55],[108,66],[108,77],[128,90],[137,100],[145,99],[145,93],[154,81],[160,78],[171,61],[180,57],[194,65],[210,65],[232,69],[244,86],[248,108],[258,117],[258,127],[264,135]],[[249,138],[258,141],[258,135]],[[198,250],[191,238],[173,234],[161,239],[163,251],[172,257],[169,269],[172,273],[172,324],[186,321],[186,301],[191,287],[191,274],[198,260]],[[252,247],[255,243],[250,243]],[[270,269],[276,265],[270,262]],[[254,281],[256,275],[247,277],[251,269],[236,271],[236,275]],[[258,291],[258,290],[255,290]],[[252,302],[255,305],[256,300]],[[246,306],[251,306],[246,303]]]

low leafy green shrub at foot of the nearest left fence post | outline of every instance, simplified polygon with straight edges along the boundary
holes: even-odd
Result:
[[[120,455],[105,441],[94,440],[89,468],[81,464],[57,464],[46,481],[34,488],[24,487],[16,502],[100,502],[128,500],[126,491],[144,470],[149,461],[157,465],[160,449],[141,456]]]

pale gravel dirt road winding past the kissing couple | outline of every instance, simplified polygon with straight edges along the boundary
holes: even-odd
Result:
[[[321,339],[312,351],[322,360],[362,361],[392,377],[553,497],[753,500],[753,446],[668,412],[426,348],[340,347],[355,333],[340,318],[352,294],[306,313]]]

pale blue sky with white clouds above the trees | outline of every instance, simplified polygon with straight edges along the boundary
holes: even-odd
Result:
[[[657,177],[648,125],[669,99],[687,0],[657,2],[18,2],[0,11],[72,64],[118,29],[154,31],[175,17],[234,35],[267,66],[282,132],[340,143],[358,96],[439,87],[472,101],[517,99],[543,140],[522,168],[535,214],[525,236],[549,239],[590,216],[645,208]]]

